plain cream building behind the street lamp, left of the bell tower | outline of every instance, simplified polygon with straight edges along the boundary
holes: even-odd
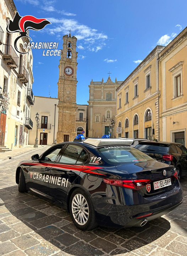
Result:
[[[35,144],[37,135],[36,113],[39,114],[38,145],[53,145],[58,130],[59,100],[57,98],[35,96],[31,108],[33,129],[29,132],[29,144]]]

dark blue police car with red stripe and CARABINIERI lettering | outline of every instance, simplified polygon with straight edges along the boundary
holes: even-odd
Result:
[[[130,146],[131,140],[92,139],[52,146],[20,162],[16,183],[65,205],[82,230],[143,226],[182,203],[174,166]]]

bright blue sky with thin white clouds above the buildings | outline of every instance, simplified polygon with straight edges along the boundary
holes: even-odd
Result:
[[[186,26],[187,1],[14,0],[20,16],[47,18],[29,31],[33,42],[59,42],[71,28],[77,37],[77,104],[88,104],[90,81],[123,81],[157,45],[167,45]],[[59,56],[33,49],[33,92],[57,98]],[[49,87],[50,86],[50,87]]]

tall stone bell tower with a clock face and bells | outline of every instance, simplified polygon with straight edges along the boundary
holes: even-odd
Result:
[[[70,31],[71,32],[71,31]],[[59,64],[58,99],[59,123],[57,143],[76,137],[77,38],[63,36],[63,50]]]

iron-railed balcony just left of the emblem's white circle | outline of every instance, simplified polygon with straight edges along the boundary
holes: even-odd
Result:
[[[19,65],[19,57],[10,44],[3,44],[3,58],[10,68],[17,68]]]

